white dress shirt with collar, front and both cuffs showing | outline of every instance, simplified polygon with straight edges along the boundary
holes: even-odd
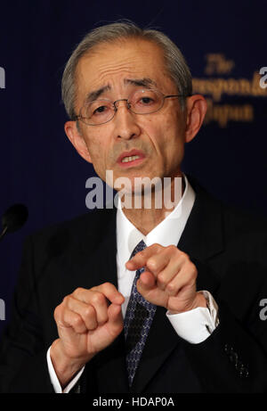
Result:
[[[143,235],[137,228],[125,217],[121,209],[120,201],[117,205],[117,285],[118,291],[125,297],[122,304],[122,314],[125,317],[125,311],[130,299],[132,285],[134,282],[135,271],[129,271],[125,263],[130,259],[135,246],[143,240],[149,247],[151,244],[158,243],[164,247],[168,245],[177,246],[182,236],[183,229],[190,216],[194,205],[196,194],[194,193],[188,179],[184,176],[185,190],[182,199],[172,212],[158,224],[149,234]],[[182,339],[192,344],[205,341],[215,327],[218,325],[217,312],[218,307],[210,292],[202,291],[208,301],[209,308],[198,307],[180,314],[170,314],[166,311],[166,317],[174,327],[175,332]],[[69,385],[62,391],[61,384],[54,372],[53,364],[50,358],[50,349],[47,352],[47,363],[55,392],[67,393],[76,384],[84,368],[69,382]]]

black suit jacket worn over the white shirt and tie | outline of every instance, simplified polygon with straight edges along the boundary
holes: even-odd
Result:
[[[198,290],[213,294],[220,325],[206,341],[190,344],[158,307],[131,390],[121,333],[85,366],[81,392],[267,391],[267,321],[260,316],[267,298],[266,224],[190,183],[197,196],[178,247],[198,267]],[[2,392],[53,392],[46,351],[58,338],[54,308],[77,287],[117,286],[116,248],[116,210],[96,210],[28,238],[2,338]]]

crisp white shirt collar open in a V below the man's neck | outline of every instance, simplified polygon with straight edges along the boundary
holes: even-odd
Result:
[[[125,265],[130,259],[134,247],[143,240],[147,246],[157,242],[166,247],[174,244],[177,246],[182,231],[190,216],[196,194],[186,176],[184,177],[185,189],[182,199],[175,209],[153,228],[149,234],[142,234],[129,220],[121,209],[121,203],[117,203],[117,259],[119,264]]]

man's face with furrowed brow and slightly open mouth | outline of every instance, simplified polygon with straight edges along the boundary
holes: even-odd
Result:
[[[105,87],[98,98],[113,102],[127,99],[144,88],[144,82],[163,95],[178,94],[158,45],[134,39],[97,46],[77,66],[77,114],[93,91]],[[134,114],[120,102],[108,123],[86,126],[80,121],[79,127],[87,152],[77,150],[103,180],[106,170],[113,170],[114,179],[132,181],[134,177],[174,177],[181,172],[186,115],[178,98],[166,99],[160,111],[146,115]],[[134,154],[139,158],[123,160]]]

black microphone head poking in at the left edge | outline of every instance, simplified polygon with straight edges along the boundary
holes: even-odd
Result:
[[[14,204],[4,212],[2,216],[2,233],[0,241],[7,233],[13,233],[20,229],[28,220],[28,209],[24,204]]]

